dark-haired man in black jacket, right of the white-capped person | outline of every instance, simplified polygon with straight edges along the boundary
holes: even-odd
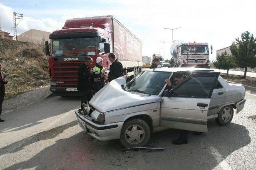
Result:
[[[108,59],[112,64],[110,65],[109,73],[106,78],[108,78],[108,82],[111,82],[112,80],[124,75],[124,68],[122,63],[116,59],[116,55],[114,53],[109,53]]]

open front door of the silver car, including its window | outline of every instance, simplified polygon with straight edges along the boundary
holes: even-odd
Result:
[[[208,132],[207,113],[219,72],[195,72],[169,90],[160,107],[160,126]]]

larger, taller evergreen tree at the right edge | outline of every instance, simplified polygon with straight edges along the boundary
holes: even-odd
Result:
[[[253,34],[248,31],[242,33],[241,39],[236,38],[237,45],[232,44],[230,51],[234,56],[237,66],[244,68],[244,76],[246,78],[247,67],[256,67],[256,39]]]

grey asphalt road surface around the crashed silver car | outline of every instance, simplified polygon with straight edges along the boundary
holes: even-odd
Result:
[[[256,95],[246,94],[244,109],[209,133],[189,135],[173,145],[178,130],[154,133],[149,144],[162,152],[121,151],[118,140],[98,141],[77,125],[79,98],[52,96],[4,113],[0,123],[0,169],[256,169]]]

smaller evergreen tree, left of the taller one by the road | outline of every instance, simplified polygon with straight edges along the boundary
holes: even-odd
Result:
[[[217,55],[217,61],[214,61],[213,65],[218,69],[227,70],[227,76],[229,69],[236,67],[234,58],[232,57],[232,55],[227,54],[226,51],[221,55]]]

